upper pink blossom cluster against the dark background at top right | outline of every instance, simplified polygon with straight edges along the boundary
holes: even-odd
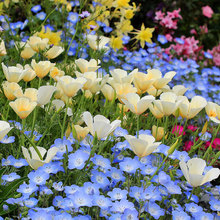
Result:
[[[180,8],[172,12],[168,11],[167,15],[165,15],[165,13],[162,11],[157,11],[155,20],[158,21],[162,27],[168,29],[177,29],[178,19],[182,19],[182,16],[179,13],[180,13]]]

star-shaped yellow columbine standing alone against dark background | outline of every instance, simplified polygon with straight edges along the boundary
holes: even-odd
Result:
[[[154,28],[145,28],[144,24],[141,25],[141,30],[134,32],[135,38],[141,42],[141,47],[144,48],[145,42],[152,43]]]

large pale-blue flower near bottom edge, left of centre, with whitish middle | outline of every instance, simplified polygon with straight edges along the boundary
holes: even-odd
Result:
[[[69,198],[73,201],[75,208],[80,208],[82,206],[92,206],[92,199],[91,197],[84,193],[82,190],[77,191],[73,195],[70,195]]]

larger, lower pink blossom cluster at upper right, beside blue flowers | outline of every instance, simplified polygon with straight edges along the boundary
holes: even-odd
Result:
[[[183,56],[184,58],[196,59],[197,52],[201,49],[201,47],[198,46],[199,41],[196,40],[194,36],[181,36],[181,39],[184,41],[183,44],[178,42],[176,42],[176,44],[171,44],[168,48],[164,49],[164,52],[168,55],[175,53],[176,55]]]

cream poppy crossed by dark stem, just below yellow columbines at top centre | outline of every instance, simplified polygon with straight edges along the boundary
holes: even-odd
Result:
[[[110,41],[110,38],[108,37],[89,34],[87,35],[87,41],[93,50],[109,50],[109,47],[105,46]]]

